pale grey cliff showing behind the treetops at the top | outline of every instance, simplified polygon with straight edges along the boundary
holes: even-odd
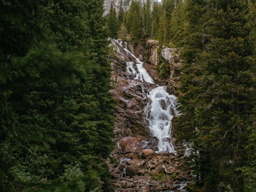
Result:
[[[155,1],[156,0],[150,0],[151,6],[153,6],[153,3]],[[103,17],[105,17],[109,13],[111,2],[113,4],[113,7],[116,9],[116,12],[118,13],[121,2],[122,2],[122,8],[124,9],[124,11],[126,11],[127,9],[129,9],[129,7],[132,3],[132,0],[105,0],[104,1],[105,12],[103,14]],[[146,3],[147,0],[140,0],[140,2],[141,2],[141,5],[143,5],[143,3]]]

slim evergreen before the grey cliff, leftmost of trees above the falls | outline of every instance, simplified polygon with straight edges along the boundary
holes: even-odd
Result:
[[[117,36],[117,17],[116,17],[116,10],[113,7],[113,4],[111,3],[109,14],[108,14],[108,30],[109,30],[109,36],[111,38],[116,38]]]

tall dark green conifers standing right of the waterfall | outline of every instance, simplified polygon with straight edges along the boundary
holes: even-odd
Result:
[[[241,169],[250,158],[256,103],[250,4],[190,0],[185,10],[177,130],[179,140],[191,144],[204,191],[246,189]]]

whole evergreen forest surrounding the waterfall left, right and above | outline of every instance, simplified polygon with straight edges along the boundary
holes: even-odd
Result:
[[[190,191],[256,191],[254,0],[0,1],[0,191],[103,191],[115,143],[109,40],[181,50]],[[158,58],[158,76],[170,75]]]

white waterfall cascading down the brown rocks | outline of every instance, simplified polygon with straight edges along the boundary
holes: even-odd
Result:
[[[126,71],[129,74],[135,75],[134,79],[139,79],[141,82],[155,84],[153,79],[149,76],[146,69],[143,67],[143,62],[135,57],[129,50],[127,50],[127,43],[120,42],[119,45],[123,47],[127,54],[130,54],[136,63],[126,62]],[[134,64],[137,70],[134,68]],[[157,84],[155,84],[157,85]],[[166,86],[159,86],[151,90],[147,97],[149,102],[145,109],[146,118],[149,122],[149,130],[153,137],[158,139],[158,151],[170,151],[175,153],[172,144],[172,118],[178,115],[178,111],[175,109],[174,95],[170,95],[166,92]]]

